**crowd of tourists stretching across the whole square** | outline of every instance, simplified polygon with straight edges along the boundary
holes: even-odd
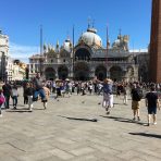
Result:
[[[132,97],[132,110],[133,121],[140,121],[139,108],[140,100],[145,99],[145,104],[148,111],[148,126],[151,123],[151,116],[153,124],[157,124],[157,109],[160,110],[160,94],[161,84],[153,83],[125,83],[125,82],[112,82],[110,78],[99,81],[94,78],[88,82],[79,81],[45,81],[40,77],[40,73],[37,73],[30,82],[23,83],[23,97],[24,104],[27,106],[32,112],[34,102],[41,100],[44,109],[47,109],[50,94],[54,94],[54,99],[71,97],[76,95],[96,95],[102,96],[102,107],[106,109],[107,114],[110,114],[110,110],[114,107],[113,95],[117,98],[122,96],[123,103],[127,106],[128,97]],[[13,101],[13,110],[17,108],[18,101],[18,88],[14,83],[11,85],[9,82],[0,84],[0,116],[2,116],[1,108],[10,108],[10,99]]]

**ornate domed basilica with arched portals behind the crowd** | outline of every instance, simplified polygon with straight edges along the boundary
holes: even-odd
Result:
[[[107,47],[97,34],[97,29],[88,27],[73,46],[67,38],[62,46],[57,42],[55,48],[50,45],[44,46],[41,54],[29,58],[29,77],[37,72],[46,79],[89,81],[94,77],[113,81],[147,81],[149,54],[141,51],[129,51],[129,37],[119,34],[116,40]]]

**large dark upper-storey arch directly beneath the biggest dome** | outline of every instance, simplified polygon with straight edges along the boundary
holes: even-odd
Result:
[[[90,60],[90,52],[85,49],[85,48],[81,48],[75,52],[75,60],[86,60],[89,61]]]

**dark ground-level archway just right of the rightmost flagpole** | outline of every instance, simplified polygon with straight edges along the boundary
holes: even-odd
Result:
[[[120,66],[112,66],[110,69],[110,77],[113,81],[122,81],[123,79],[123,71]]]

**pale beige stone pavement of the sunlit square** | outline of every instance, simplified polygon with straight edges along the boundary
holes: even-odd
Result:
[[[160,161],[161,112],[150,127],[143,101],[140,122],[132,122],[128,106],[114,98],[107,115],[101,96],[72,96],[41,102],[28,112],[18,98],[18,110],[0,117],[0,161]],[[79,119],[79,120],[78,120]],[[90,122],[81,119],[97,119]]]

